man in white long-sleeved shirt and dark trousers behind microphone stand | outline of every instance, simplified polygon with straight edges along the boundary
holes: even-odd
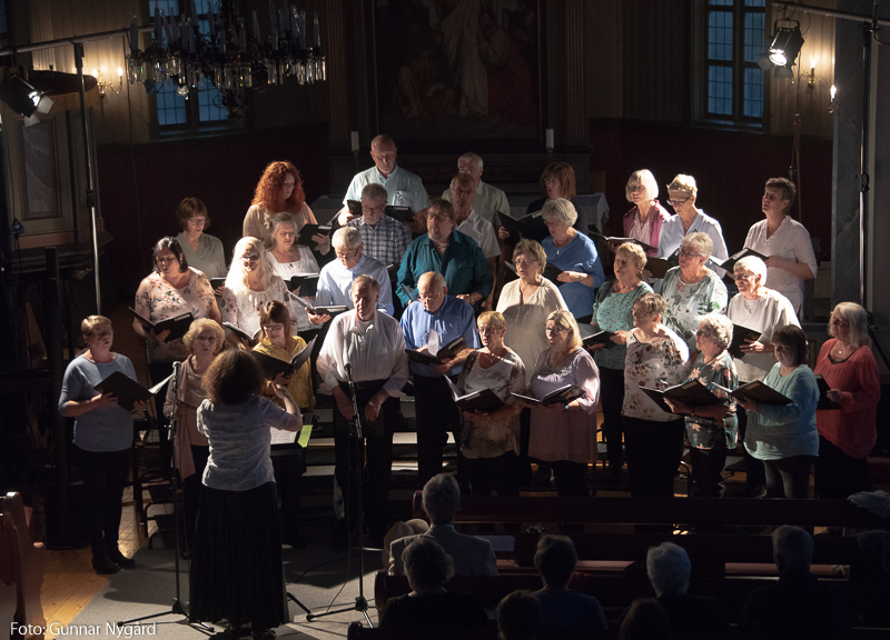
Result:
[[[322,389],[334,394],[335,474],[343,490],[347,518],[335,524],[332,547],[345,544],[356,526],[358,487],[356,473],[365,460],[356,442],[349,372],[356,391],[358,420],[366,441],[367,487],[365,516],[372,541],[383,543],[393,463],[393,432],[398,422],[398,399],[408,379],[405,337],[399,323],[377,310],[380,286],[370,276],[358,276],[352,286],[354,311],[337,316],[330,324],[317,368]],[[360,531],[357,532],[359,536]]]

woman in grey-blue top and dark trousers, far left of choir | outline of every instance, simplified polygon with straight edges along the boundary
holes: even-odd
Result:
[[[132,412],[111,393],[96,386],[112,373],[136,380],[136,369],[126,356],[111,351],[115,329],[105,316],[90,316],[80,323],[87,350],[69,362],[62,378],[59,413],[75,419],[71,461],[83,480],[85,503],[80,510],[92,549],[97,573],[117,573],[136,562],[120,552],[121,499],[132,462]],[[137,409],[146,403],[137,402]]]

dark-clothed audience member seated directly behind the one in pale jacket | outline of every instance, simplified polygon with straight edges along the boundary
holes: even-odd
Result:
[[[402,559],[412,592],[386,602],[382,628],[459,629],[488,624],[478,598],[445,589],[454,567],[435,540],[422,536],[408,544]]]

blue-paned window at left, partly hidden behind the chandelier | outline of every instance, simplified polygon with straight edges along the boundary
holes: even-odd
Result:
[[[148,3],[149,19],[154,19],[155,0]],[[165,14],[181,16],[180,4],[188,0],[159,0],[159,9]],[[198,10],[198,28],[207,33],[209,0],[195,0]],[[161,38],[167,40],[166,33]],[[228,118],[227,110],[220,104],[220,93],[209,78],[204,79],[204,87],[188,90],[188,98],[181,96],[171,82],[165,82],[151,94],[154,124],[160,134],[181,133],[199,129],[235,128],[238,123]]]

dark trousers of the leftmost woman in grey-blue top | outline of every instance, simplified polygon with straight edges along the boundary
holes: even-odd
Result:
[[[132,450],[85,451],[71,447],[73,462],[83,479],[85,516],[93,557],[117,548],[123,487],[130,473]]]

